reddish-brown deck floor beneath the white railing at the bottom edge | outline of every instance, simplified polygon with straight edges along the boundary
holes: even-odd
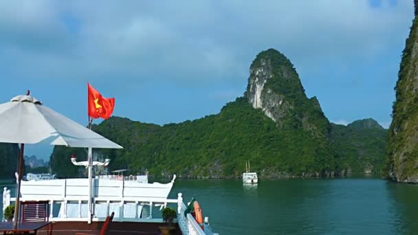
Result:
[[[100,228],[103,222],[93,222],[88,224],[85,221],[59,221],[54,222],[52,225],[52,234],[54,235],[74,235],[77,232],[83,232],[87,234],[99,234]],[[120,222],[113,221],[109,226],[108,234],[161,234],[159,226],[166,225],[165,223],[148,223],[148,222]],[[173,224],[176,230],[173,231],[174,235],[181,235],[181,231],[177,224]],[[46,235],[46,230],[39,230],[37,234]]]

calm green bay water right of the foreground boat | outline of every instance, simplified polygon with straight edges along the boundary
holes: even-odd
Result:
[[[382,179],[177,180],[220,234],[418,234],[418,186]]]

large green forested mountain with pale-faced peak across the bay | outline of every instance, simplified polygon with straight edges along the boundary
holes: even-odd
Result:
[[[343,161],[353,154],[335,153],[344,150],[344,140],[331,138],[344,131],[333,131],[318,100],[307,98],[294,65],[275,49],[256,56],[244,96],[217,115],[164,126],[111,117],[93,129],[124,146],[100,150],[112,159],[111,170],[147,168],[155,177],[239,177],[247,160],[261,177],[330,177],[357,169]],[[54,148],[51,166],[59,177],[80,175],[69,164],[72,154],[87,158],[83,149]]]

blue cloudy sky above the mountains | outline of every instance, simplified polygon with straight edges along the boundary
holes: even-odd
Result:
[[[3,0],[0,102],[30,89],[87,125],[90,82],[115,98],[113,115],[195,120],[243,96],[252,60],[274,48],[331,122],[387,128],[413,12],[412,0]],[[44,159],[51,150],[25,147]]]

